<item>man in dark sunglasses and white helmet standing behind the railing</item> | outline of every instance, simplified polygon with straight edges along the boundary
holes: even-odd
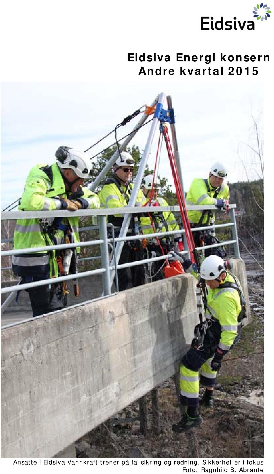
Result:
[[[135,161],[128,152],[123,151],[119,154],[119,157],[113,165],[113,175],[105,182],[99,192],[101,208],[118,209],[128,206],[130,195],[134,187],[134,183],[132,182],[134,164]],[[138,190],[135,205],[142,206],[144,201],[145,198],[142,191]],[[123,214],[117,213],[108,216],[108,222],[114,226],[115,237],[119,237],[123,220]],[[132,218],[127,235],[131,236],[138,233],[138,219]],[[111,256],[114,250],[115,249],[112,249]],[[142,260],[142,258],[143,250],[140,240],[125,241],[119,258],[119,264]],[[142,274],[142,265],[119,269],[119,290],[127,290],[128,288],[141,284],[143,279]]]

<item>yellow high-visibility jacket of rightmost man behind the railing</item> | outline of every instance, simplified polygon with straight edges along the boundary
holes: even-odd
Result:
[[[186,195],[186,204],[188,206],[214,206],[217,204],[217,199],[229,199],[229,188],[226,183],[222,183],[220,190],[216,196],[213,198],[216,189],[212,188],[210,185],[210,180],[208,178],[208,186],[210,192],[207,189],[207,185],[202,178],[194,178],[189,191]],[[193,224],[198,224],[201,219],[202,211],[201,210],[188,210],[188,218]],[[202,224],[207,222],[207,213],[203,217]],[[213,218],[215,218],[215,213],[213,212]]]

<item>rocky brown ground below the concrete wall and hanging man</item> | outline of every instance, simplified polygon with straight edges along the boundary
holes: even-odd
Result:
[[[136,402],[79,440],[77,456],[262,458],[263,273],[249,271],[248,286],[252,323],[243,329],[241,341],[224,359],[217,378],[215,408],[201,407],[203,423],[199,428],[187,435],[172,433],[171,423],[179,418],[179,405],[173,379],[169,379],[158,387],[158,430],[148,394],[146,435],[140,434]]]

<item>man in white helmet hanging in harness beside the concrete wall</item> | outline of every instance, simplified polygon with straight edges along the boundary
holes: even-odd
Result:
[[[184,262],[184,269],[192,271],[190,260]],[[240,285],[237,278],[226,270],[223,259],[217,255],[205,258],[200,275],[209,287],[206,323],[195,327],[192,346],[180,365],[180,403],[186,411],[180,421],[172,425],[177,433],[188,431],[202,422],[199,414],[199,371],[200,383],[206,387],[201,403],[213,407],[217,371],[225,354],[238,340],[242,327],[242,305],[235,288],[235,285],[238,288]],[[234,287],[229,286],[230,283]]]

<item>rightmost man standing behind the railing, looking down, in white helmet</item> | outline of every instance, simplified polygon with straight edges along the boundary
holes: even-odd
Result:
[[[214,163],[210,170],[209,178],[194,178],[186,195],[187,206],[216,206],[219,210],[229,210],[229,188],[224,179],[228,175],[227,168],[221,163]],[[212,226],[215,223],[213,210],[188,210],[187,212],[192,228]],[[195,247],[208,246],[219,243],[215,229],[194,231]],[[223,247],[214,247],[205,251],[205,256],[218,255],[225,257]]]

